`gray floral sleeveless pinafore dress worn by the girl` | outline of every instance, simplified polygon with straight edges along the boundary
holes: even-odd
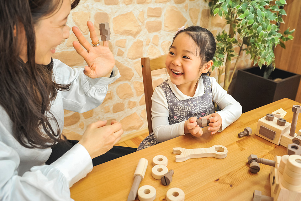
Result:
[[[202,117],[214,113],[214,105],[212,102],[212,90],[210,77],[202,75],[204,84],[204,94],[194,98],[189,98],[180,101],[176,95],[172,92],[168,80],[162,82],[159,87],[164,91],[168,109],[169,109],[169,124],[176,124],[182,121],[186,121],[190,117]],[[138,146],[137,151],[145,149],[147,147],[156,145],[158,142],[152,132],[148,135]]]

